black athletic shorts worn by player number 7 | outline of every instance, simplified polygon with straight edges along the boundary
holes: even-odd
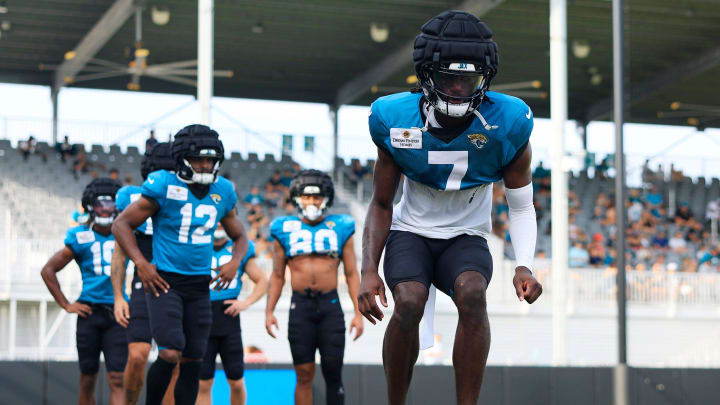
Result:
[[[383,264],[390,291],[405,281],[430,284],[453,296],[455,279],[466,271],[476,271],[490,283],[492,257],[485,238],[459,235],[451,239],[432,239],[404,231],[390,231]]]

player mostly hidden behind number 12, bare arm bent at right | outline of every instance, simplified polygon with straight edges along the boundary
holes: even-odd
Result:
[[[213,240],[213,268],[232,259],[232,241],[228,239],[222,224],[218,224]],[[242,275],[247,274],[254,283],[250,295],[240,299]],[[211,290],[213,325],[200,370],[200,392],[196,405],[210,405],[211,390],[215,378],[217,355],[223,363],[225,377],[230,385],[230,405],[245,405],[245,361],[242,335],[240,333],[240,312],[256,303],[267,292],[267,278],[255,260],[255,244],[248,241],[248,251],[243,257],[235,279],[226,290]]]

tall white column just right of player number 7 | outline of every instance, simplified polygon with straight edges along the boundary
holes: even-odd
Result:
[[[550,1],[550,118],[552,120],[552,305],[555,366],[567,364],[568,201],[565,176],[567,121],[567,4]]]

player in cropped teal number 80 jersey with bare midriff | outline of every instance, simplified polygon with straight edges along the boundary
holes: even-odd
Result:
[[[362,315],[357,307],[360,277],[352,238],[355,221],[349,215],[325,215],[325,209],[333,203],[335,190],[330,176],[321,171],[303,170],[296,174],[290,183],[290,198],[300,216],[279,217],[270,225],[270,235],[275,241],[265,328],[275,337],[273,326],[277,329],[278,324],[273,312],[285,284],[285,268],[289,266],[293,293],[288,340],[297,375],[295,404],[312,404],[317,350],[327,388],[327,404],[343,404],[345,319],[337,293],[341,261],[355,307],[350,333],[354,329],[357,339],[363,332]]]

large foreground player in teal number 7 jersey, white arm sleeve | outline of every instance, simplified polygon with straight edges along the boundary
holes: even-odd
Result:
[[[415,39],[420,89],[376,100],[369,126],[378,148],[374,193],[363,233],[359,305],[373,324],[395,306],[383,342],[390,405],[404,404],[419,347],[432,342],[435,289],[459,314],[453,365],[459,405],[476,404],[490,348],[485,291],[492,276],[492,187],[505,182],[516,256],[513,284],[529,304],[542,293],[532,273],[537,222],[530,174],[532,111],[489,91],[497,73],[492,32],[472,14],[446,11]],[[403,195],[393,207],[400,175]],[[427,304],[427,305],[426,305]],[[431,328],[427,328],[431,329]],[[427,332],[427,333],[426,333]],[[429,342],[428,342],[429,341]]]

